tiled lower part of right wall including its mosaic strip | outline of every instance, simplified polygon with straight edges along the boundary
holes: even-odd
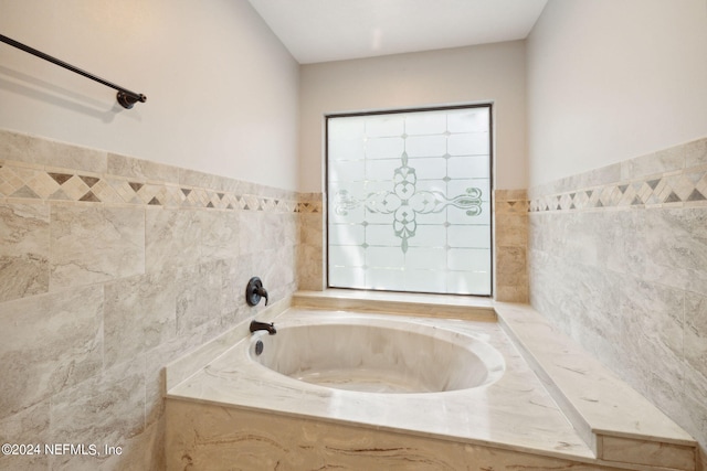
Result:
[[[529,191],[530,302],[707,447],[707,139]]]

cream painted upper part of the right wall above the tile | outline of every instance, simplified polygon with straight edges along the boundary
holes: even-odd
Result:
[[[530,186],[705,135],[704,0],[550,0],[527,49]]]

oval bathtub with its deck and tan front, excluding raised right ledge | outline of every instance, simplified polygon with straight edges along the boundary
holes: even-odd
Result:
[[[181,465],[175,469],[184,464],[175,457],[200,456],[204,469],[219,469],[208,461],[219,453],[291,461],[295,451],[324,461],[288,469],[318,469],[338,462],[329,460],[335,449],[378,454],[388,440],[400,445],[391,450],[422,440],[416,447],[434,445],[435,456],[452,453],[442,442],[477,457],[492,450],[490,463],[499,449],[592,458],[495,321],[291,308],[274,323],[275,335],[255,332],[170,387],[167,449]],[[325,449],[313,451],[318,447]],[[535,462],[525,454],[509,460]],[[271,464],[262,469],[277,460]]]

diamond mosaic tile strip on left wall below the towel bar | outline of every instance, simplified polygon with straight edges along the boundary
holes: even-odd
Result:
[[[22,199],[166,207],[319,213],[320,201],[292,201],[235,194],[168,182],[139,182],[115,175],[0,162],[0,200]]]

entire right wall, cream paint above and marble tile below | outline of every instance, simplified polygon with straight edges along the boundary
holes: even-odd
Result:
[[[530,302],[704,452],[707,3],[550,0],[527,65]]]

